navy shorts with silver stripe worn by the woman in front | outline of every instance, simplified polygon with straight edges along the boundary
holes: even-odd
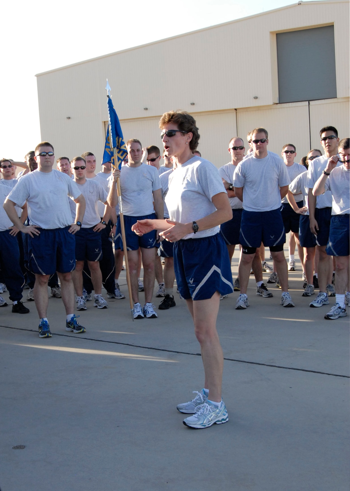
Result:
[[[233,292],[227,247],[220,234],[175,242],[174,269],[185,300],[207,300],[215,292]]]

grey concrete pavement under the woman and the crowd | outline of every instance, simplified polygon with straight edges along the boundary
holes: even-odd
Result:
[[[238,252],[234,277],[237,265]],[[247,310],[234,310],[239,293],[220,302],[229,421],[201,431],[175,408],[203,384],[178,295],[135,322],[127,299],[88,302],[84,335],[65,331],[50,299],[50,339],[37,335],[33,302],[27,315],[1,308],[1,491],[347,491],[349,317],[308,306],[300,265],[289,284],[295,308],[274,285],[274,298],[256,297],[252,276]]]

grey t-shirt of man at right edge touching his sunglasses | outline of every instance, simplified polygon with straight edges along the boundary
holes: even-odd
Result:
[[[325,182],[325,192],[332,193],[332,215],[350,214],[350,170],[335,167]]]

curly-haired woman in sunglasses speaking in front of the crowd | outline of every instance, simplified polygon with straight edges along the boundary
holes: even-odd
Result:
[[[233,292],[232,274],[220,224],[232,218],[218,169],[193,155],[200,138],[195,119],[187,112],[166,112],[159,127],[165,155],[177,165],[169,178],[165,202],[170,219],[141,220],[132,229],[138,235],[161,230],[174,242],[177,288],[192,315],[204,365],[204,387],[192,401],[177,409],[188,416],[183,423],[207,428],[228,421],[221,398],[223,351],[216,330],[220,294]]]

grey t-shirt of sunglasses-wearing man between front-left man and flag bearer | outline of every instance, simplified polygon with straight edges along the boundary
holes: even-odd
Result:
[[[85,198],[85,213],[84,218],[81,222],[82,228],[90,228],[94,227],[98,223],[100,223],[100,214],[98,210],[98,202],[102,201],[103,203],[107,201],[107,193],[104,191],[100,183],[95,179],[86,179],[84,184],[76,183],[79,191]],[[72,201],[72,200],[71,200]],[[74,203],[74,201],[73,201]],[[75,203],[74,203],[75,204]],[[105,205],[103,205],[103,209]],[[104,213],[102,213],[103,217]],[[72,213],[73,217],[73,213]],[[75,213],[74,213],[75,217]]]

